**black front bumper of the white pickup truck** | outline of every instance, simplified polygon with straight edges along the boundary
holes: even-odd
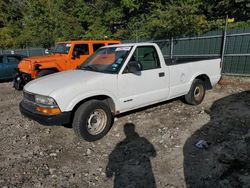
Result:
[[[19,104],[19,109],[24,116],[43,125],[63,125],[71,122],[71,112],[62,112],[58,115],[43,115],[26,108],[23,101]]]

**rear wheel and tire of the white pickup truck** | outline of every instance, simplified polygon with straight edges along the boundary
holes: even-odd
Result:
[[[191,105],[200,104],[206,93],[205,83],[202,80],[195,79],[191,85],[188,94],[185,95],[185,101]]]

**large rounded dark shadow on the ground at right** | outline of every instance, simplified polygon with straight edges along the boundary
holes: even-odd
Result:
[[[209,114],[183,148],[187,187],[250,187],[250,91],[215,101]]]

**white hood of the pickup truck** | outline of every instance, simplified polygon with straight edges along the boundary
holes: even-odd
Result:
[[[86,70],[64,71],[35,79],[25,85],[24,90],[51,97],[62,96],[67,92],[95,90],[105,80],[116,76],[115,74],[104,74]]]

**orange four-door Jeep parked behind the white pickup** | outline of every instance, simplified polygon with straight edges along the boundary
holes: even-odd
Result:
[[[29,81],[60,71],[76,69],[102,46],[120,44],[118,40],[89,40],[59,42],[52,54],[24,58],[18,65],[13,86],[17,90]]]

